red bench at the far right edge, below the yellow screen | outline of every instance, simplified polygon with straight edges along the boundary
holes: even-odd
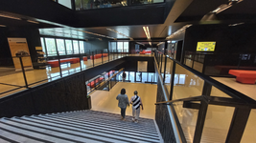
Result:
[[[255,84],[256,71],[230,70],[229,74],[237,76],[236,80],[245,84]]]

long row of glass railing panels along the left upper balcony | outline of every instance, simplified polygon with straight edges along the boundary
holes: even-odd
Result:
[[[151,54],[110,54],[109,60],[115,60],[124,56],[151,56]],[[94,65],[101,65],[102,62],[106,63],[108,62],[108,56],[104,57],[104,60],[102,59],[95,59]],[[93,67],[93,61],[88,59],[87,61],[81,61],[80,63],[76,64],[62,64],[61,65],[61,73],[62,76],[67,76],[69,74],[75,73],[75,72],[81,72],[82,70],[92,68]],[[40,85],[45,82],[50,82],[53,80],[56,80],[59,77],[59,67],[57,68],[46,68],[44,70],[33,70],[33,71],[26,71],[26,77],[29,87],[35,87],[36,85]],[[40,81],[39,83],[36,83]],[[15,90],[12,92],[9,92],[11,90],[17,89],[19,86],[25,86],[25,81],[23,77],[22,72],[9,72],[9,74],[0,76],[0,83],[9,84],[9,85],[3,85],[0,84],[0,98],[4,97],[6,95],[9,95],[14,92],[19,92],[26,90],[26,88],[21,88],[19,90]],[[35,84],[36,83],[36,84]],[[31,85],[33,84],[33,85]],[[12,85],[12,86],[11,86]]]

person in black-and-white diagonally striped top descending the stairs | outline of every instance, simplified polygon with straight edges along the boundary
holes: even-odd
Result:
[[[134,96],[130,98],[129,103],[132,104],[132,121],[138,123],[138,119],[140,116],[140,106],[143,110],[143,104],[141,101],[141,97],[137,95],[138,92],[134,91]]]

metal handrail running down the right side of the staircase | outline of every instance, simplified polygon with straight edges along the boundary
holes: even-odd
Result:
[[[155,56],[153,56],[153,58],[154,58],[154,68],[157,70],[158,76],[159,76],[158,80],[160,80],[160,83],[161,83],[160,85],[163,90],[165,100],[168,101],[168,95],[167,95],[166,89],[164,88],[164,84],[163,84],[164,82],[161,78],[161,76],[162,76],[161,72],[159,71]],[[182,130],[179,120],[177,118],[174,106],[173,105],[167,106],[167,109],[168,109],[169,116],[170,116],[170,119],[171,119],[171,122],[173,125],[173,131],[175,133],[176,143],[187,143],[186,137],[183,133],[183,130]]]

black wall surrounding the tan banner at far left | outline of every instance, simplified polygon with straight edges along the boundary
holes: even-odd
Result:
[[[32,62],[36,62],[35,47],[41,47],[40,35],[37,29],[26,28],[4,28],[0,29],[0,66],[12,66],[12,54],[8,44],[8,37],[12,38],[26,38],[30,50]],[[8,60],[7,60],[8,59]]]

